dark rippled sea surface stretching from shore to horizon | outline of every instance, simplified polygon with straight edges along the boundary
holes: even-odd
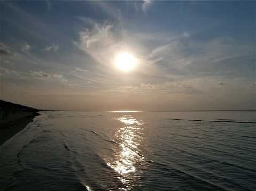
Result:
[[[256,190],[255,111],[40,114],[0,147],[0,190]]]

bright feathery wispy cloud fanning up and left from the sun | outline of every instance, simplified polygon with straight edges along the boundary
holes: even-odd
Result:
[[[73,42],[100,64],[100,70],[104,72],[108,72],[106,69],[113,66],[115,54],[123,48],[121,43],[122,31],[108,21],[103,23],[94,21],[93,26],[81,31],[79,40]]]

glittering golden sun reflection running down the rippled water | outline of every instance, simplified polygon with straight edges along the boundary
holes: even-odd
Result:
[[[134,119],[129,114],[122,115],[117,120],[121,122],[114,137],[118,146],[113,147],[115,154],[107,165],[119,173],[118,179],[125,186],[122,189],[130,190],[129,176],[136,171],[135,164],[144,159],[137,147],[142,141],[142,125],[144,123],[142,120]]]

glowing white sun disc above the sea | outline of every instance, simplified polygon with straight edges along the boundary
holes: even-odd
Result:
[[[130,71],[135,68],[137,60],[127,52],[122,52],[115,58],[115,66],[122,71]]]

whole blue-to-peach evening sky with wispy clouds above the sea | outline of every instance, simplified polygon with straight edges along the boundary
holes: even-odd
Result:
[[[0,98],[43,110],[254,110],[255,4],[0,1]]]

